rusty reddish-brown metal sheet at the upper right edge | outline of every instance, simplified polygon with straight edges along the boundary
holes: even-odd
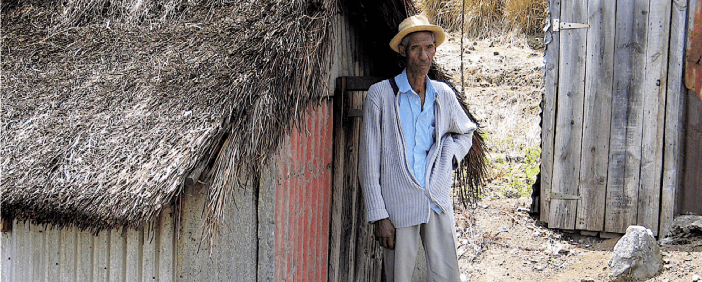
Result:
[[[702,0],[691,0],[685,52],[685,86],[702,98]]]

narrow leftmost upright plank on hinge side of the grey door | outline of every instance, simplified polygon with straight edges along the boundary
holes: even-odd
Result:
[[[550,23],[553,19],[560,18],[561,1],[550,0],[548,5]],[[548,222],[550,214],[550,194],[553,179],[553,150],[556,124],[556,102],[558,96],[558,57],[559,57],[559,32],[552,32],[553,28],[546,31],[546,44],[544,54],[544,96],[541,108],[541,198],[539,199],[539,221]],[[549,42],[550,40],[550,42]]]

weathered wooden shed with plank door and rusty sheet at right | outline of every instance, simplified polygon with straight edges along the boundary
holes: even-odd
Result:
[[[702,2],[550,1],[549,10],[541,221],[664,235],[676,214],[702,214]]]

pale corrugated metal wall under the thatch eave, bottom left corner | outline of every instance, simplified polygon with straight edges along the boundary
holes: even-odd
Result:
[[[173,281],[172,217],[162,211],[154,232],[98,236],[15,221],[1,236],[1,281]]]

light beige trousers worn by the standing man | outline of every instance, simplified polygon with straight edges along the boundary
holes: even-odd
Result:
[[[411,282],[419,241],[427,256],[430,282],[459,282],[453,214],[432,212],[429,222],[395,229],[395,250],[383,248],[388,282]]]

